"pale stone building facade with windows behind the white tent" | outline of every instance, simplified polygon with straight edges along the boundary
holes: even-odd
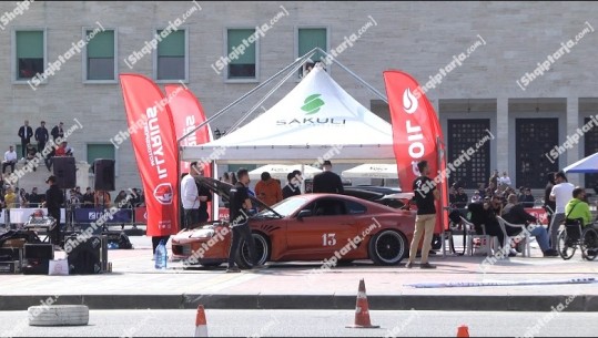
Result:
[[[77,160],[114,158],[116,190],[141,186],[131,143],[114,142],[128,127],[118,74],[184,83],[212,116],[314,47],[382,93],[385,70],[417,79],[448,161],[479,144],[450,177],[467,187],[498,170],[539,188],[548,172],[598,151],[592,2],[22,1],[1,2],[0,16],[0,147],[20,146],[26,119],[33,129],[80,122],[68,137]],[[389,121],[383,100],[341,66],[328,71]],[[255,102],[212,130],[227,132]]]

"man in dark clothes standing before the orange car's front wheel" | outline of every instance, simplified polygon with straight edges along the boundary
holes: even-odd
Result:
[[[246,168],[240,168],[236,172],[236,184],[231,188],[230,197],[230,221],[232,227],[231,249],[229,250],[229,268],[226,273],[240,273],[241,270],[235,265],[236,252],[240,249],[241,240],[247,243],[250,246],[250,256],[253,260],[253,268],[261,268],[263,266],[257,265],[257,250],[255,249],[255,242],[251,235],[251,228],[249,223],[249,209],[252,208],[252,203],[249,194],[250,174]]]

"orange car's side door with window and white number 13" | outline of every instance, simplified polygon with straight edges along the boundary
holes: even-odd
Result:
[[[357,233],[356,217],[348,215],[342,198],[322,197],[303,209],[311,216],[290,221],[288,259],[324,259],[343,248]]]

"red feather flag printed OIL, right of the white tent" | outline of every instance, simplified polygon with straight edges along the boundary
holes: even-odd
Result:
[[[419,84],[409,74],[401,71],[385,71],[384,82],[388,96],[393,124],[393,150],[395,153],[401,187],[413,191],[413,181],[419,176],[417,163],[427,161],[434,186],[440,188],[442,198],[437,213],[446,205],[447,182],[443,173],[444,154],[440,156],[443,130],[434,107]],[[417,192],[416,192],[417,194]],[[437,218],[436,233],[442,232],[442,217]]]

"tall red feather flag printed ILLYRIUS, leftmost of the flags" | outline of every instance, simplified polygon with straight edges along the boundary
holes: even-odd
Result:
[[[131,143],[148,207],[148,236],[179,232],[179,152],[168,102],[152,80],[121,74]]]

